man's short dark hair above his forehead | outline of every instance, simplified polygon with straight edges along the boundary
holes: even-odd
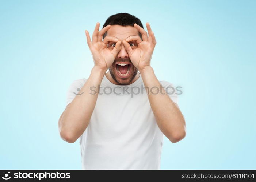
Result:
[[[107,25],[121,25],[123,27],[126,27],[126,26],[133,27],[134,23],[136,23],[137,25],[143,28],[141,20],[138,19],[137,17],[130,15],[129,13],[117,13],[115,15],[111,15],[110,17],[108,17],[108,19],[106,20],[102,28],[106,27]],[[107,32],[104,33],[103,39],[106,37],[106,35],[107,35]],[[142,39],[140,32],[139,32],[139,36]]]

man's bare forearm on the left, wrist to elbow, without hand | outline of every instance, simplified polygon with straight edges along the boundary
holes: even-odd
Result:
[[[93,67],[84,86],[62,113],[59,131],[65,141],[75,142],[87,128],[98,98],[99,90],[96,88],[99,88],[105,72]]]

